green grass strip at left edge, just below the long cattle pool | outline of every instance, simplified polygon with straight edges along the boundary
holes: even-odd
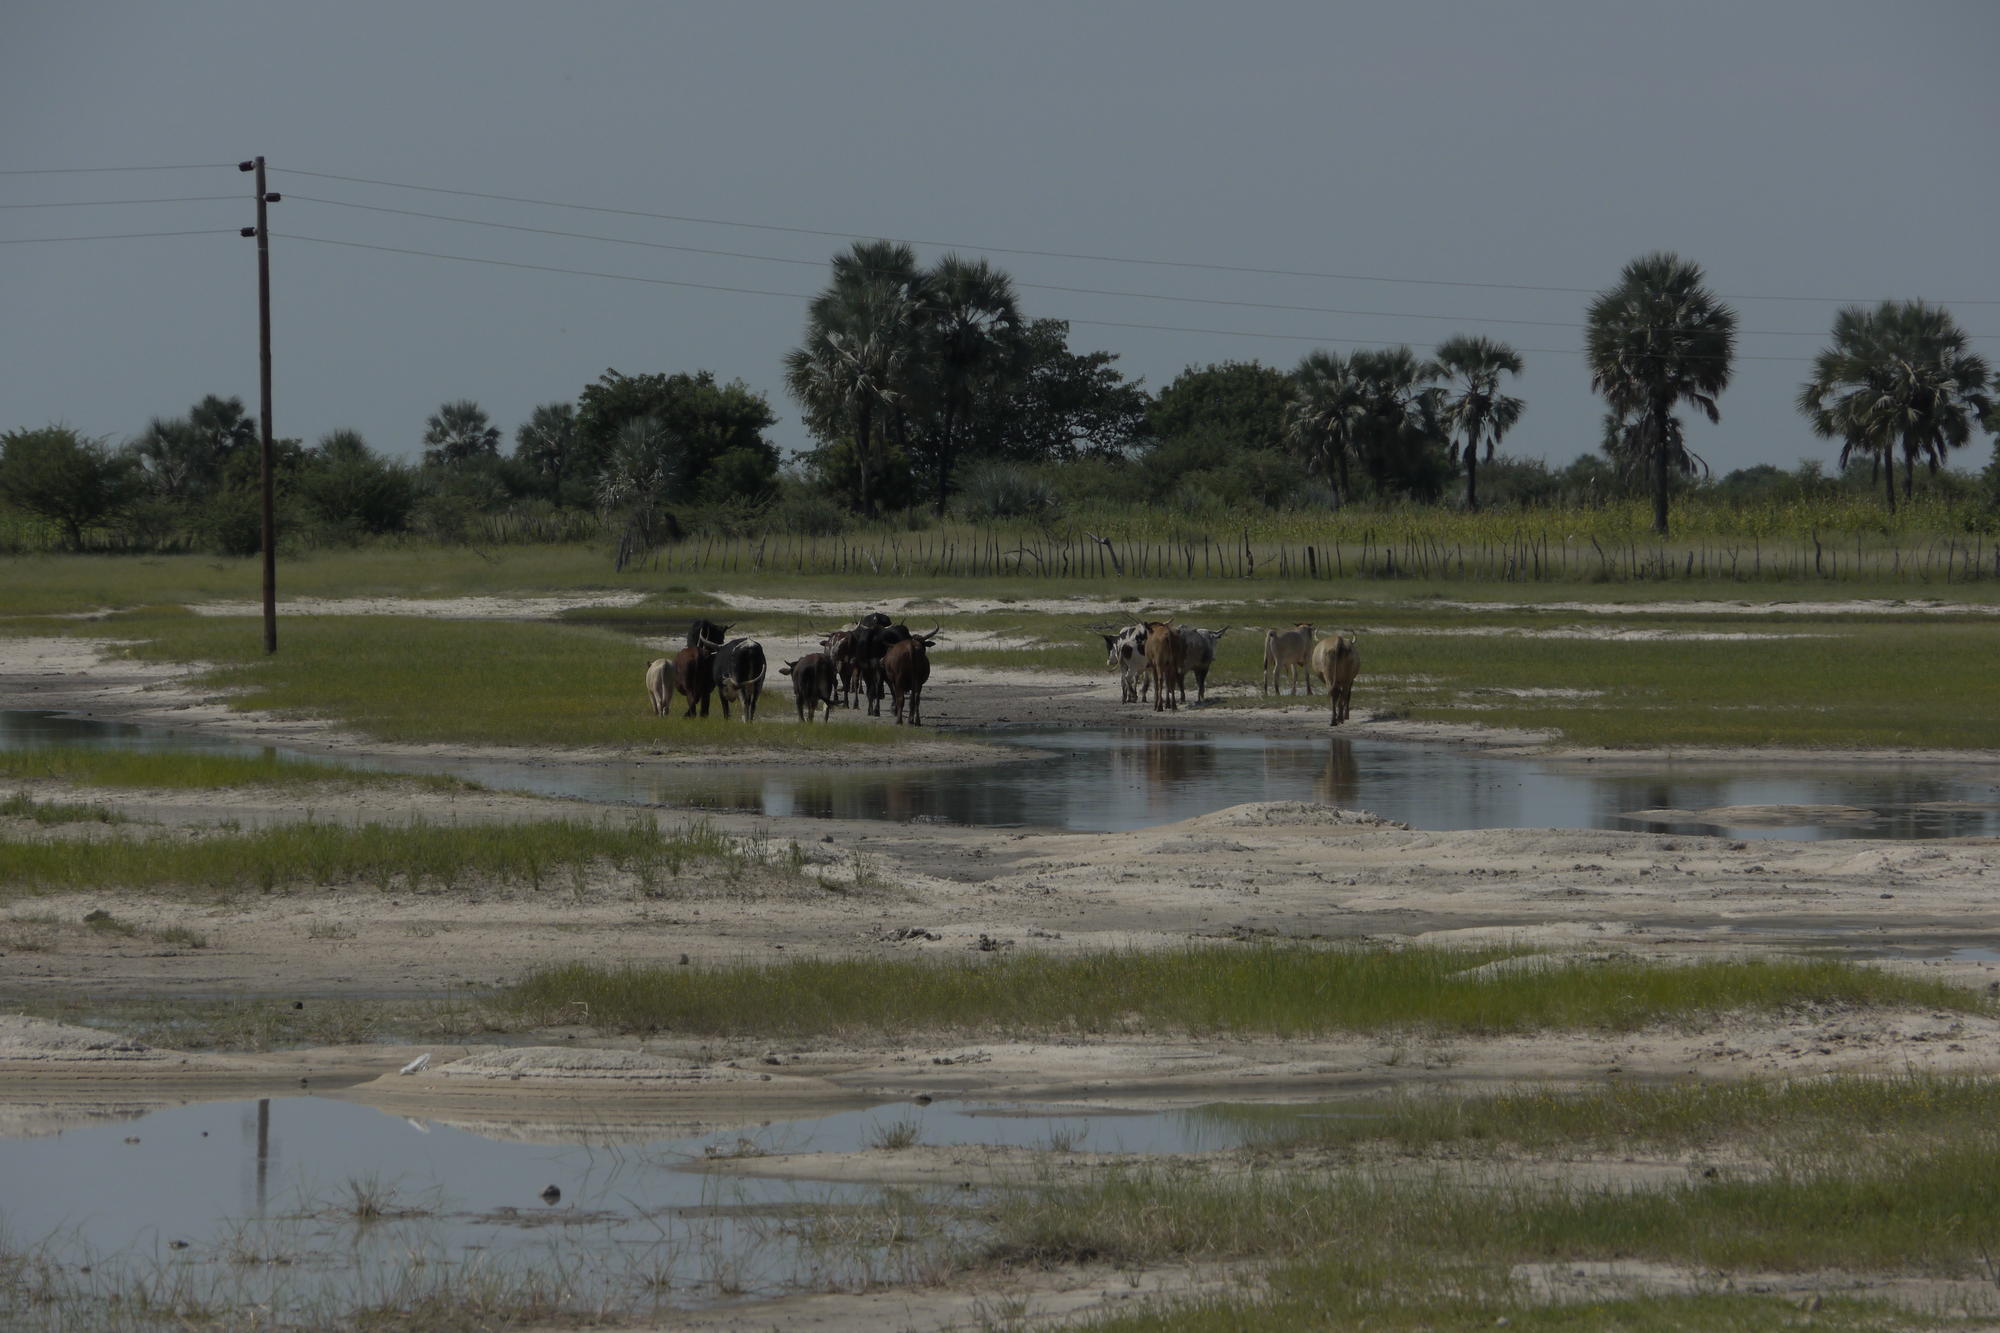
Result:
[[[644,877],[744,853],[708,823],[672,833],[626,823],[328,825],[138,839],[0,839],[0,901],[80,889],[280,891],[300,885],[436,885],[468,881],[562,887],[586,867]]]

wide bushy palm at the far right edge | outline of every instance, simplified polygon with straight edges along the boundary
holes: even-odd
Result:
[[[1822,438],[1840,438],[1840,466],[1856,452],[1888,464],[1886,498],[1896,512],[1896,448],[1902,448],[1902,498],[1916,486],[1918,456],[1936,472],[1946,448],[1960,448],[1992,420],[1992,374],[1984,356],[1942,306],[1884,300],[1874,310],[1848,306],[1834,316],[1832,346],[1812,360],[1798,390],[1798,410]]]

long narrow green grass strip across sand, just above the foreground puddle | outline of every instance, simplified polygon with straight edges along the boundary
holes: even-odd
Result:
[[[1738,1009],[1928,1005],[1986,1011],[1944,983],[1826,961],[1604,963],[1502,977],[1466,971],[1510,951],[1218,947],[986,963],[800,959],[710,969],[540,969],[502,1003],[588,1005],[620,1031],[786,1037],[938,1033],[1276,1035],[1632,1031]]]

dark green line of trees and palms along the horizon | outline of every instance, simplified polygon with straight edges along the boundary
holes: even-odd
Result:
[[[1720,420],[1736,314],[1696,264],[1648,254],[1590,302],[1584,354],[1606,404],[1600,450],[1554,472],[1496,454],[1526,412],[1506,342],[1454,336],[1430,356],[1322,348],[1292,370],[1190,366],[1154,394],[1114,354],[1074,350],[1066,322],[1028,318],[988,260],[946,254],[926,268],[910,246],[872,240],[832,258],[784,358],[814,438],[790,464],[768,438],[772,404],[708,370],[606,370],[574,402],[534,408],[510,450],[478,402],[456,400],[424,422],[418,462],[332,430],[312,446],[278,440],[274,464],[284,526],[322,542],[460,540],[496,512],[558,538],[610,530],[630,550],[690,526],[810,534],[954,506],[1044,520],[1066,502],[1478,508],[1494,478],[1502,502],[1650,494],[1664,534],[1672,494],[1708,474],[1684,412]],[[1898,458],[1910,498],[1918,462],[1936,474],[1950,450],[2000,432],[1996,392],[1948,310],[1886,300],[1836,314],[1796,406],[1840,444],[1842,472],[1866,468],[1894,510]],[[0,500],[70,548],[112,528],[126,548],[248,554],[258,452],[256,420],[224,396],[118,446],[62,424],[18,428],[0,434]],[[1988,484],[2000,496],[2000,450]]]

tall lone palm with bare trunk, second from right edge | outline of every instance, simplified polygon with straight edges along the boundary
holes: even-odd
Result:
[[[1674,408],[1686,402],[1722,420],[1716,396],[1728,388],[1734,354],[1736,312],[1702,286],[1698,264],[1676,254],[1632,260],[1618,284],[1590,302],[1590,388],[1610,404],[1626,464],[1652,474],[1652,528],[1660,536],[1668,474],[1700,466]]]

